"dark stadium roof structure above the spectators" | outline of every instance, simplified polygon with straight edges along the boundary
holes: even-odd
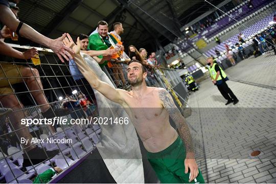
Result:
[[[216,3],[221,1],[215,1]],[[70,33],[89,35],[100,20],[122,22],[124,45],[148,51],[183,35],[180,28],[211,7],[204,0],[28,0],[20,1],[18,17],[50,38]]]

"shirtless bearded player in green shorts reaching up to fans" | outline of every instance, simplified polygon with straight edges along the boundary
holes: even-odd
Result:
[[[127,68],[132,91],[114,89],[100,81],[87,66],[80,55],[79,39],[76,45],[67,34],[63,43],[74,50],[74,60],[91,87],[126,110],[162,183],[204,183],[194,158],[192,137],[185,119],[167,90],[146,86],[147,72],[139,61],[130,61]],[[180,136],[170,125],[169,117],[177,125]]]

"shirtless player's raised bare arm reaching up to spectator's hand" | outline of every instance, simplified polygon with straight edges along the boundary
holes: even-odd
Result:
[[[102,93],[105,97],[110,99],[111,101],[114,101],[116,103],[119,103],[121,105],[124,104],[124,99],[122,97],[123,93],[125,93],[125,90],[121,89],[115,89],[111,87],[109,84],[100,81],[98,76],[94,73],[94,71],[86,64],[84,59],[80,55],[80,41],[78,38],[77,45],[74,43],[73,39],[69,34],[67,34],[67,37],[63,40],[63,43],[72,48],[75,52],[74,55],[74,61],[77,64],[79,70],[81,71],[82,75],[86,78],[88,83],[92,88],[95,88],[100,93]]]

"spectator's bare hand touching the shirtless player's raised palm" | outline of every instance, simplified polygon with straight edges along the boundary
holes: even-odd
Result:
[[[61,37],[59,37],[59,38],[57,38],[55,40],[52,40],[52,42],[49,44],[49,47],[56,53],[56,55],[58,56],[58,58],[63,63],[64,63],[64,60],[62,59],[61,56],[63,56],[63,58],[65,58],[67,61],[69,61],[69,59],[72,59],[72,56],[74,55],[74,51],[72,50],[72,48],[70,48],[70,47],[66,46],[65,44],[63,44],[64,43],[63,40],[68,35],[69,34],[64,33]]]

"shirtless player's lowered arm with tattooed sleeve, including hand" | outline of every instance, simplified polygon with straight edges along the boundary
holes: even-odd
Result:
[[[194,159],[192,136],[190,134],[188,124],[186,123],[185,118],[182,116],[178,108],[175,106],[175,103],[170,93],[165,89],[160,89],[158,93],[159,93],[159,99],[162,101],[163,107],[167,110],[170,117],[177,125],[177,129],[179,131],[180,137],[183,143],[185,143],[185,147],[186,147],[186,159],[184,161],[185,173],[188,173],[188,170],[190,169],[191,178],[189,182],[191,182],[196,178],[199,171],[198,171],[198,166],[196,164],[196,161]]]

